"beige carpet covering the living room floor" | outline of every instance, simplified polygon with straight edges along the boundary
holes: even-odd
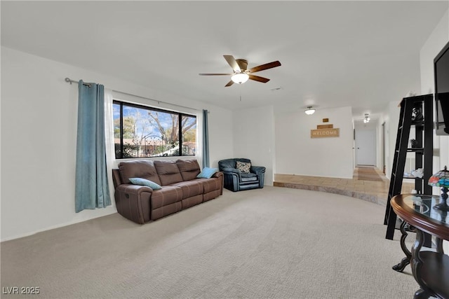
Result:
[[[1,244],[1,298],[413,298],[384,207],[265,187],[154,223],[118,214]]]

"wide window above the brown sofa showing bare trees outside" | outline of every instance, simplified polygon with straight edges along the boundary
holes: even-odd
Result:
[[[195,155],[196,116],[119,101],[113,108],[116,159]]]

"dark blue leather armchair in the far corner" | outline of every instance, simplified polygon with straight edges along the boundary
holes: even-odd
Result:
[[[225,188],[231,191],[264,188],[265,167],[250,165],[249,172],[237,169],[237,161],[251,163],[245,158],[233,158],[218,161],[218,168],[223,172]]]

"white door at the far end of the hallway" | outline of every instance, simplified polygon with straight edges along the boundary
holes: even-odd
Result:
[[[356,165],[376,164],[375,130],[356,130]]]

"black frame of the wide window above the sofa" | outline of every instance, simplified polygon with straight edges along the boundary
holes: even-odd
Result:
[[[125,102],[125,101],[121,101],[118,99],[112,99],[112,105],[114,106],[114,104],[118,104],[120,106],[120,157],[117,157],[117,154],[115,153],[115,142],[113,142],[114,144],[114,158],[116,160],[123,160],[123,159],[142,159],[142,158],[167,158],[167,157],[195,157],[197,151],[195,151],[194,155],[187,155],[182,153],[182,116],[187,116],[189,118],[195,118],[195,123],[196,123],[196,132],[195,132],[195,140],[196,140],[196,147],[198,148],[198,118],[196,115],[194,114],[189,114],[189,113],[183,113],[183,112],[179,112],[179,111],[173,111],[173,110],[168,110],[168,109],[161,109],[161,108],[156,108],[154,106],[146,106],[144,104],[135,104],[135,103],[130,103],[130,102]],[[152,157],[123,157],[123,105],[124,106],[130,106],[133,108],[137,108],[137,109],[145,109],[148,111],[156,111],[156,112],[162,112],[162,113],[170,113],[170,114],[175,114],[178,117],[178,126],[177,126],[177,136],[178,136],[178,147],[179,147],[179,155],[169,155],[169,156],[152,156]],[[115,139],[115,132],[113,134],[113,138]]]

